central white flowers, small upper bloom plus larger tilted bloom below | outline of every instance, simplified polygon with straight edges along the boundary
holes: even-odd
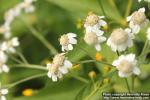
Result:
[[[59,42],[63,52],[73,50],[73,44],[77,44],[75,37],[77,37],[77,35],[74,33],[67,33],[60,37]],[[47,64],[49,70],[48,77],[56,82],[58,79],[61,79],[64,74],[67,74],[71,67],[72,63],[67,60],[65,53],[57,54],[53,58],[53,62]]]

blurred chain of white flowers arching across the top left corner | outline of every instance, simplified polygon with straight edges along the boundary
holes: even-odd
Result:
[[[34,6],[32,5],[33,0],[24,0],[17,4],[15,7],[9,9],[4,16],[4,24],[0,27],[0,33],[4,35],[5,38],[11,37],[11,23],[15,17],[19,16],[21,11],[24,10],[26,13],[33,12]]]

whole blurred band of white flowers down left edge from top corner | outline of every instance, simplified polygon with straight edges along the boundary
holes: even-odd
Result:
[[[4,24],[0,27],[0,34],[4,37],[4,40],[0,41],[0,73],[9,71],[6,64],[8,60],[7,53],[15,53],[16,47],[20,44],[18,37],[11,37],[11,24],[22,10],[26,13],[33,12],[34,6],[32,3],[33,0],[24,0],[5,13]]]

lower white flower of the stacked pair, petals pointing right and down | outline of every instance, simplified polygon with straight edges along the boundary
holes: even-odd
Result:
[[[84,41],[88,44],[88,45],[94,45],[97,51],[101,50],[101,46],[100,43],[104,42],[106,40],[106,38],[103,35],[103,32],[97,31],[98,29],[96,29],[95,31],[92,30],[91,32],[87,32],[85,33],[84,36]]]

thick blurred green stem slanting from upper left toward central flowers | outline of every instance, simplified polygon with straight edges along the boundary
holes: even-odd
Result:
[[[45,47],[47,47],[52,54],[57,54],[57,50],[52,46],[52,44],[50,44],[44,37],[43,35],[38,32],[36,29],[33,28],[33,26],[31,26],[30,24],[28,24],[23,18],[21,18],[21,20],[24,22],[24,24],[26,25],[26,27],[32,32],[32,34],[39,39],[44,45]]]

